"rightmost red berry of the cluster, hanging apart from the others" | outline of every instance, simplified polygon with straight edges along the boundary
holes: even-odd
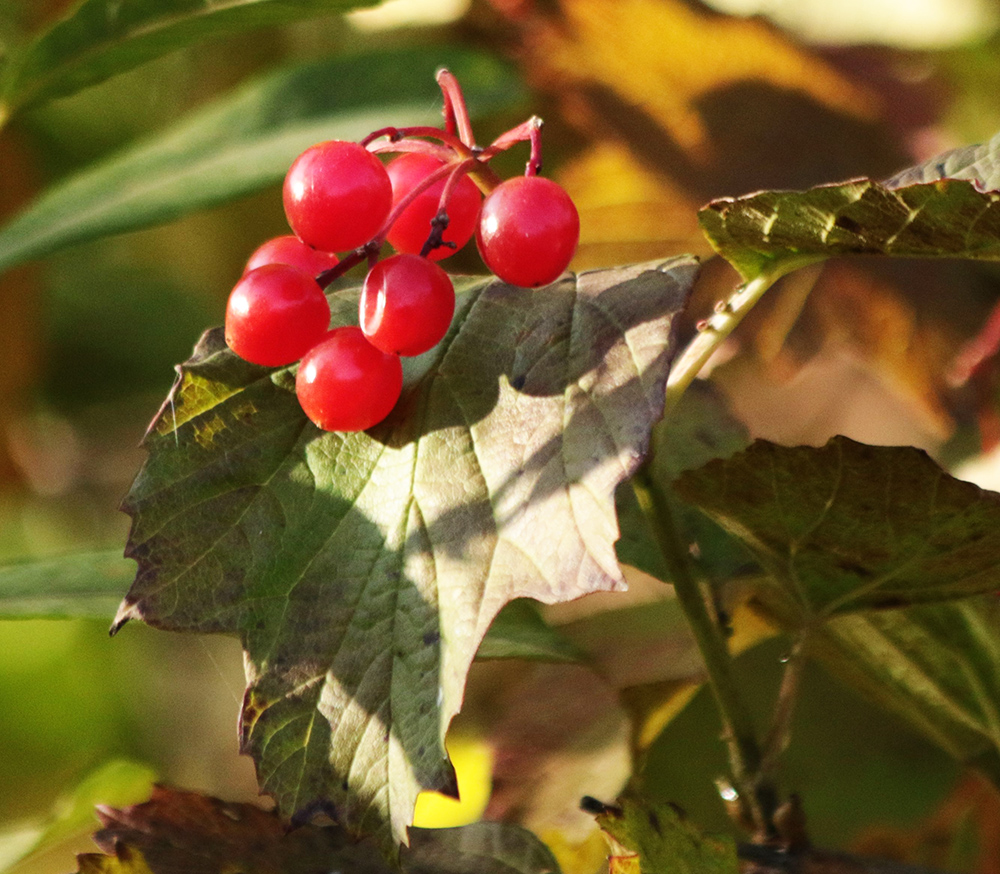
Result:
[[[580,238],[580,216],[566,191],[541,176],[515,176],[483,201],[476,242],[504,282],[533,288],[555,280]]]

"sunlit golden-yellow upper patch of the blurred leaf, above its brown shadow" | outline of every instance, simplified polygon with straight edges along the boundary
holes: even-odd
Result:
[[[680,0],[567,0],[560,6],[564,19],[539,27],[528,47],[544,68],[544,86],[586,93],[600,83],[702,160],[712,157],[714,146],[698,100],[721,87],[763,81],[857,117],[872,117],[878,105],[874,95],[763,22],[711,15]]]

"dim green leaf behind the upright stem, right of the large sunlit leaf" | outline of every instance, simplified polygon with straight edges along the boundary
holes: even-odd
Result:
[[[727,458],[749,442],[746,428],[729,412],[720,392],[710,382],[695,382],[683,394],[670,415],[653,429],[650,458],[646,462],[650,482],[664,491],[674,507],[677,523],[693,546],[692,560],[698,572],[710,580],[732,579],[750,561],[746,549],[715,522],[687,506],[674,494],[671,483],[683,471],[699,467],[713,458]],[[617,495],[618,558],[639,570],[670,582],[660,548],[653,539],[635,492],[628,483]]]

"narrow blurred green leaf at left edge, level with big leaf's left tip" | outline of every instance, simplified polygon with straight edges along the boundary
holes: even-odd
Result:
[[[134,576],[120,549],[4,565],[0,619],[107,619]]]

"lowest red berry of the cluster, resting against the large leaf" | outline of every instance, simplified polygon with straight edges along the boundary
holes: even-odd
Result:
[[[365,431],[399,400],[403,366],[376,349],[353,325],[335,328],[302,359],[295,394],[324,431]]]

